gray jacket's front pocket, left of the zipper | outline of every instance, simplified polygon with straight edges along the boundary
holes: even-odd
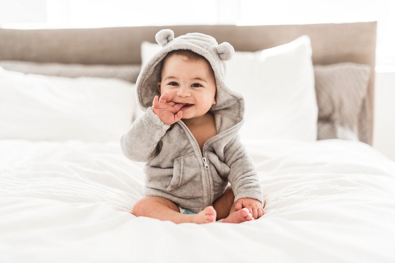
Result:
[[[201,167],[194,153],[174,159],[173,177],[167,191],[179,198],[203,196]]]

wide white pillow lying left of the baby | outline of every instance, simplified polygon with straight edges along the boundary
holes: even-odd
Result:
[[[0,69],[0,139],[119,141],[135,113],[134,84]]]

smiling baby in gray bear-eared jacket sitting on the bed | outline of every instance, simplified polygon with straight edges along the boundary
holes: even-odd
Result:
[[[133,215],[198,224],[260,218],[263,193],[237,134],[244,99],[224,82],[233,47],[201,33],[174,38],[169,29],[155,39],[162,49],[136,82],[145,114],[120,142],[126,157],[146,162],[146,197]]]

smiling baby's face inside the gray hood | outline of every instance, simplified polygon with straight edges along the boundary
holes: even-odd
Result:
[[[179,54],[167,57],[158,90],[160,94],[169,94],[166,99],[168,103],[173,101],[192,104],[181,108],[182,119],[200,117],[216,104],[214,72],[205,60],[192,62]]]

